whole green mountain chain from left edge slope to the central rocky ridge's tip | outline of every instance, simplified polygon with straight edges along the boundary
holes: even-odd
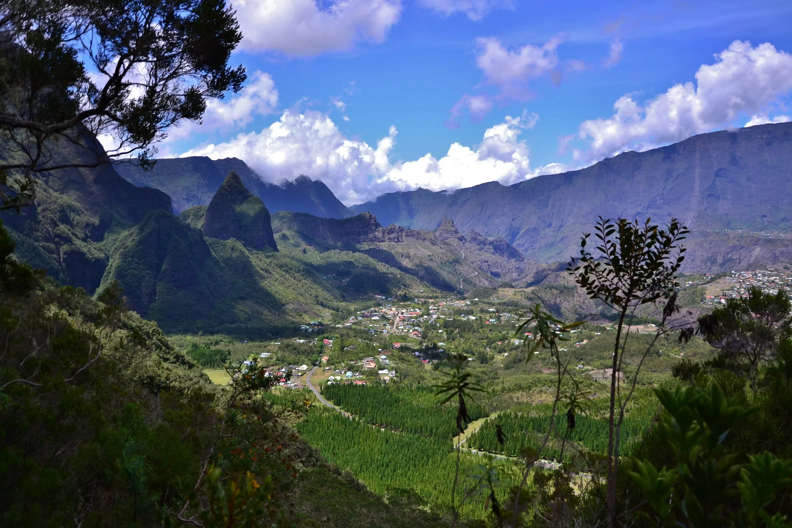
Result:
[[[86,161],[59,147],[63,161]],[[371,215],[271,218],[235,170],[207,202],[174,216],[169,196],[102,165],[42,175],[36,207],[2,219],[18,259],[89,294],[117,280],[129,306],[166,332],[267,335],[375,294],[470,290],[535,271],[507,242],[463,236],[450,221],[434,233]]]

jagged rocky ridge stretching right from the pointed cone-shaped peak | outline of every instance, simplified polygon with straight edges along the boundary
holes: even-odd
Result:
[[[441,291],[520,282],[538,268],[502,239],[460,234],[450,219],[436,231],[419,231],[382,226],[367,213],[335,220],[279,212],[272,231],[282,251],[364,253]]]

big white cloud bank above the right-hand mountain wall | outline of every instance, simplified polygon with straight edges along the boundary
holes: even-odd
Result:
[[[615,114],[584,121],[577,136],[588,150],[576,159],[595,161],[626,150],[646,150],[728,126],[744,114],[766,115],[767,108],[792,90],[792,55],[765,43],[735,40],[704,64],[696,83],[676,84],[639,104],[633,94],[619,97]]]

